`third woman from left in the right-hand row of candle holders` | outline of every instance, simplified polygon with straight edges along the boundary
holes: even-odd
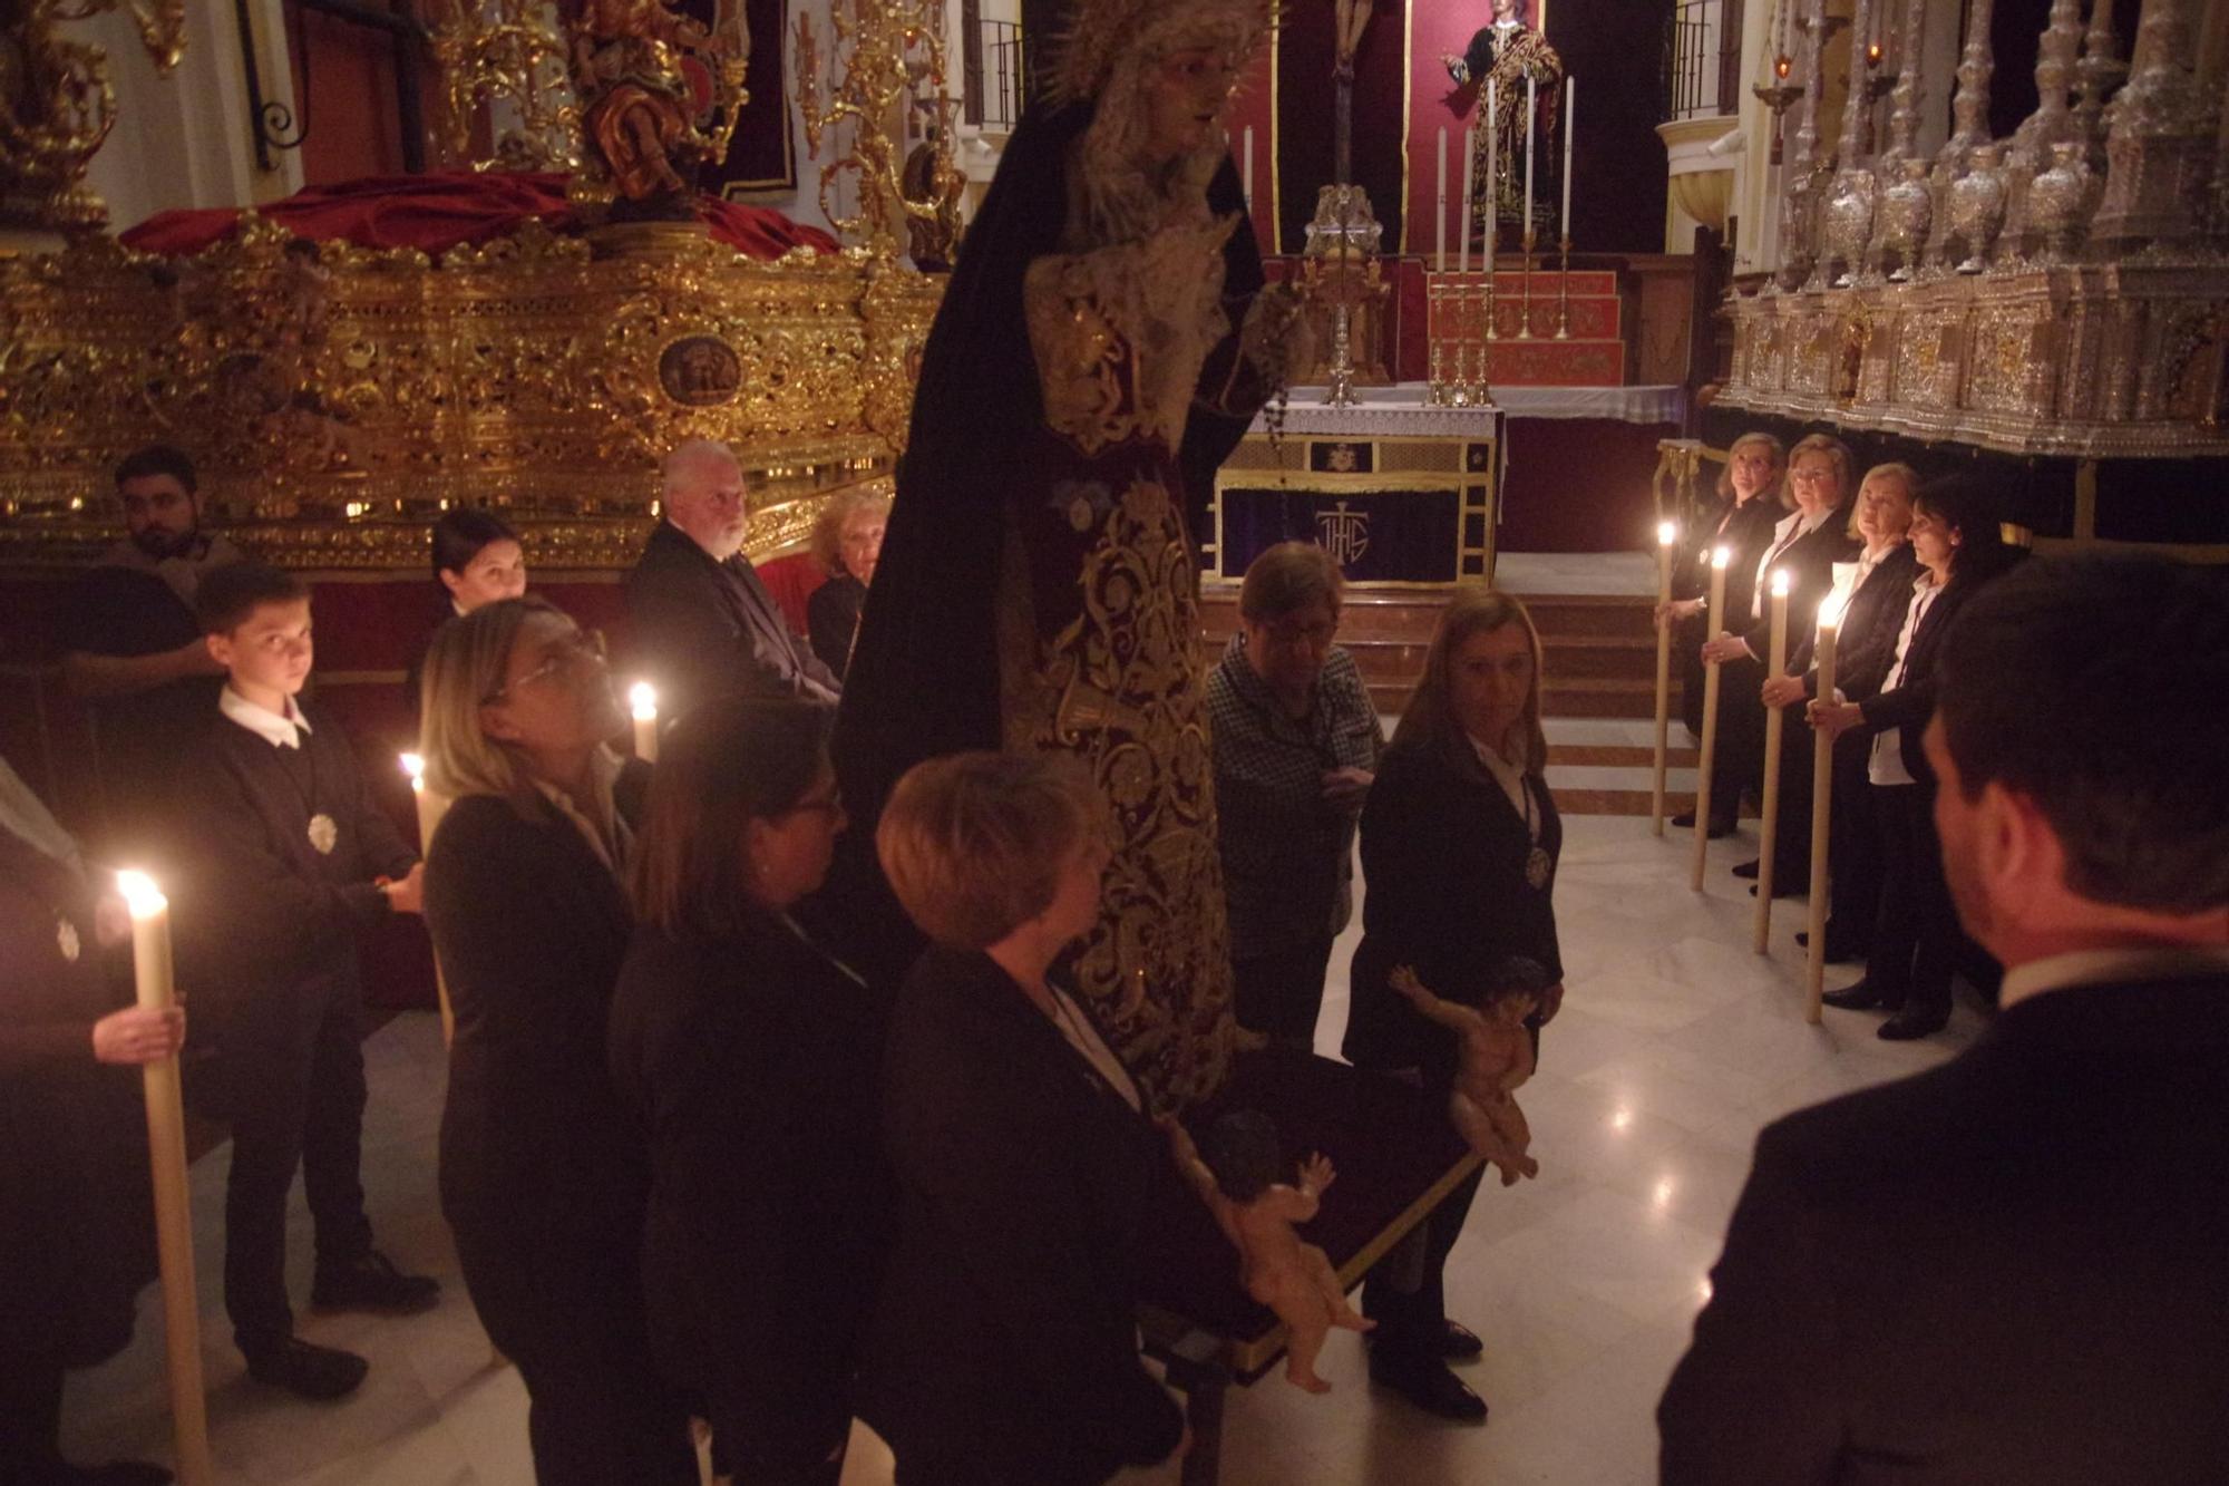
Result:
[[[1897,631],[1912,598],[1919,560],[1908,540],[1912,524],[1912,489],[1919,477],[1910,464],[1875,464],[1857,489],[1852,535],[1863,542],[1848,580],[1839,585],[1848,605],[1841,611],[1834,689],[1866,701],[1881,689],[1895,660]],[[1794,649],[1788,674],[1765,681],[1768,707],[1792,707],[1819,696],[1814,663],[1817,629],[1797,616]],[[1830,919],[1826,957],[1830,964],[1863,959],[1872,942],[1872,919],[1881,904],[1879,823],[1872,819],[1872,792],[1866,783],[1868,741],[1857,734],[1834,739],[1834,861],[1830,877]],[[1788,788],[1790,774],[1781,781]],[[1790,870],[1794,866],[1790,863]],[[1797,935],[1808,944],[1805,935]]]

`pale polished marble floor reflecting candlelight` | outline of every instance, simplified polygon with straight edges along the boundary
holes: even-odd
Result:
[[[1364,1379],[1360,1339],[1340,1332],[1320,1363],[1333,1381],[1308,1397],[1271,1374],[1233,1390],[1224,1437],[1230,1486],[1386,1482],[1545,1482],[1620,1486],[1654,1479],[1652,1412],[1705,1299],[1705,1276],[1748,1171],[1756,1131],[1783,1111],[1915,1073],[1966,1044],[1977,1013],[1924,1044],[1886,1044],[1875,1017],[1801,1015],[1801,906],[1781,904],[1770,957],[1750,953],[1754,899],[1725,868],[1750,839],[1721,841],[1710,888],[1687,890],[1690,837],[1649,837],[1645,819],[1569,821],[1556,910],[1569,1000],[1547,1031],[1540,1073],[1522,1091],[1540,1178],[1487,1187],[1449,1263],[1449,1310],[1487,1354],[1471,1383],[1493,1408],[1485,1428],[1427,1419]],[[1333,957],[1317,1046],[1346,1020]],[[1832,971],[1830,984],[1850,980]],[[370,1381],[337,1406],[299,1403],[245,1379],[218,1299],[225,1149],[194,1167],[203,1357],[221,1479],[256,1486],[526,1486],[526,1397],[497,1368],[457,1281],[435,1205],[441,1035],[406,1015],[366,1046],[372,1104],[363,1174],[381,1243],[408,1267],[441,1274],[444,1305],[408,1321],[305,1316],[314,1341],[361,1350]],[[296,1191],[292,1258],[308,1292],[308,1214]],[[65,1444],[80,1459],[160,1457],[167,1417],[154,1290],[129,1352],[78,1374]],[[1175,1482],[1175,1470],[1135,1473]],[[865,1430],[845,1475],[889,1482]]]

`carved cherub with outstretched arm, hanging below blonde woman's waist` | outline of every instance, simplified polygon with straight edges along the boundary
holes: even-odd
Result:
[[[1328,1392],[1315,1374],[1315,1357],[1333,1325],[1366,1332],[1375,1321],[1355,1314],[1340,1290],[1331,1258],[1302,1243],[1295,1223],[1315,1216],[1333,1169],[1322,1154],[1300,1162],[1300,1180],[1277,1180],[1277,1127],[1255,1111],[1228,1113],[1208,1131],[1210,1158],[1199,1156],[1193,1136],[1172,1116],[1161,1120],[1177,1169],[1215,1214],[1217,1227],[1239,1249],[1239,1281],[1246,1294],[1277,1312],[1286,1325],[1284,1377],[1308,1392]]]

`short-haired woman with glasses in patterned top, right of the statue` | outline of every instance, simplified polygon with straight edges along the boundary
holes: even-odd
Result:
[[[1355,658],[1331,643],[1344,587],[1322,547],[1271,547],[1246,567],[1239,629],[1208,672],[1235,1011],[1302,1051],[1353,913],[1355,821],[1384,747]]]

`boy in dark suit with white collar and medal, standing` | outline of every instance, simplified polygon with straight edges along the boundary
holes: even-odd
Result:
[[[337,1399],[363,1381],[352,1352],[294,1337],[285,1209],[303,1169],[317,1218],[312,1301],[419,1312],[439,1283],[372,1247],[357,1178],[363,1051],[357,933],[419,913],[421,866],[372,803],[339,725],[299,701],[310,676],[310,589],[241,562],[194,600],[225,667],[218,716],[183,792],[181,948],[196,988],[196,1102],[232,1125],[225,1310],[259,1381]]]

